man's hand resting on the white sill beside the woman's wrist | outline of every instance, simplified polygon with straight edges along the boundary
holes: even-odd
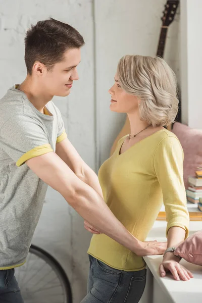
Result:
[[[155,241],[139,241],[139,246],[136,251],[137,256],[163,255],[167,248],[167,242]]]

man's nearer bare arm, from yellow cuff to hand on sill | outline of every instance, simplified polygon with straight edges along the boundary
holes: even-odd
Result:
[[[54,152],[29,159],[26,164],[45,183],[59,191],[79,215],[100,232],[137,255],[159,255],[165,251],[166,243],[141,242],[130,234],[100,195],[82,182]]]

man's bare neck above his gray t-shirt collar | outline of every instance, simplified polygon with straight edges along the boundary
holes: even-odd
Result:
[[[29,101],[41,113],[44,112],[45,105],[53,98],[53,96],[45,94],[40,85],[31,76],[27,76],[18,89],[27,95]]]

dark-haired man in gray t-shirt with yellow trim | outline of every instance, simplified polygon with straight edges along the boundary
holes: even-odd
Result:
[[[67,139],[51,101],[67,96],[81,60],[83,37],[49,19],[25,37],[27,77],[0,100],[0,301],[22,303],[14,268],[26,261],[47,185],[86,220],[87,228],[112,237],[138,255],[162,254],[166,243],[141,242],[103,200],[95,173]],[[88,223],[89,222],[89,223]]]

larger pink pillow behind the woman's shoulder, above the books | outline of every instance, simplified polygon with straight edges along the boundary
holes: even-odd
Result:
[[[188,176],[195,176],[196,167],[202,164],[202,130],[175,122],[172,132],[184,151],[184,185],[188,188]]]

